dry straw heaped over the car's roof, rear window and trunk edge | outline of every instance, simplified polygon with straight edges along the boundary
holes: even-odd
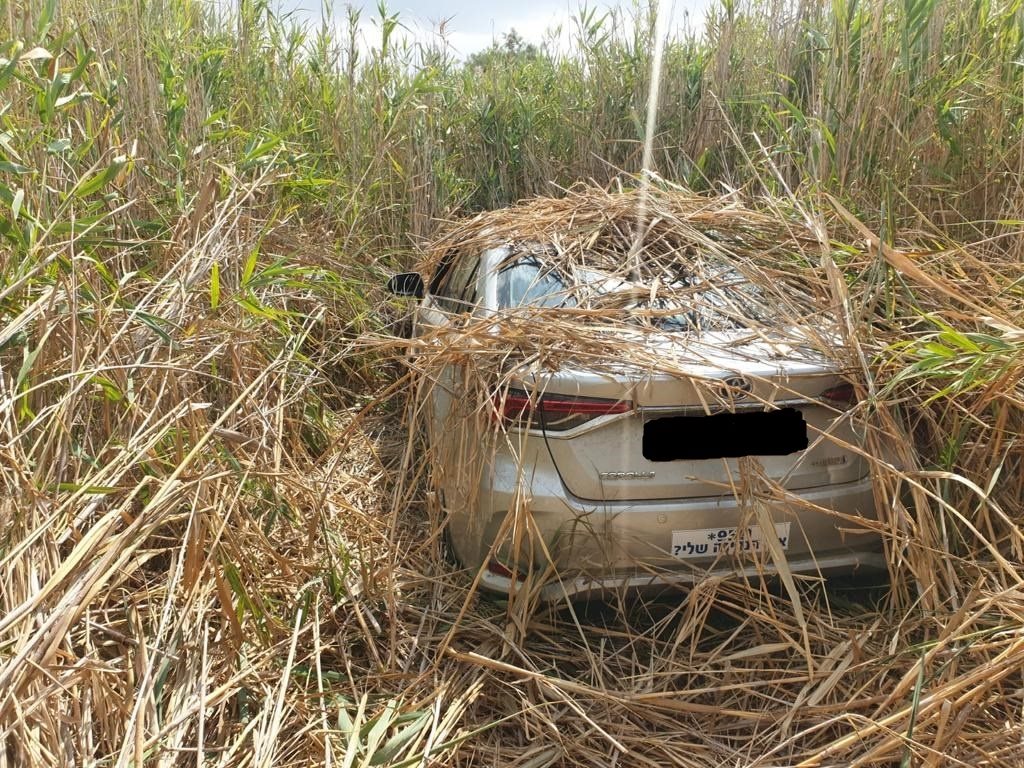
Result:
[[[836,343],[849,336],[850,318],[844,287],[833,278],[834,259],[848,260],[850,249],[839,249],[804,219],[750,207],[735,196],[654,189],[641,220],[639,195],[580,186],[562,198],[527,201],[449,226],[420,263],[428,278],[436,282],[459,256],[506,248],[509,262],[537,257],[543,269],[563,279],[569,297],[555,308],[520,307],[475,325],[463,322],[460,338],[450,342],[470,342],[479,365],[525,354],[557,365],[571,351],[600,367],[608,357],[602,351],[612,351],[620,361],[625,355],[649,368],[666,360],[643,359],[635,338],[606,331],[627,327],[635,337],[674,323],[672,330],[770,332],[779,342],[797,331],[798,347],[848,354]],[[580,288],[602,281],[611,288]],[[509,357],[502,350],[521,354]]]

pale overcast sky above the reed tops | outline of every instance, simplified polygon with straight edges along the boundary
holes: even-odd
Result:
[[[706,9],[717,0],[660,0],[663,7],[672,14],[672,26],[699,28]],[[361,8],[361,27],[365,34],[376,40],[373,19],[377,18],[376,0],[276,0],[283,10],[295,10],[308,20],[318,20],[324,6],[334,10],[335,18],[345,18],[345,8],[351,5]],[[401,24],[416,38],[426,38],[436,31],[441,22],[445,24],[446,38],[461,55],[486,48],[493,41],[515,29],[530,43],[541,43],[549,31],[559,26],[568,33],[570,19],[578,15],[583,3],[579,0],[516,0],[515,2],[492,3],[486,0],[388,0],[387,7],[397,12]],[[600,13],[609,6],[624,9],[621,24],[626,24],[634,12],[633,4],[627,2],[590,2],[590,7]]]

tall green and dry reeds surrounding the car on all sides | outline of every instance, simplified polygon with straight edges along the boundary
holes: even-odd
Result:
[[[381,286],[637,177],[624,12],[461,56],[383,5],[0,0],[0,765],[1020,762],[1018,0],[722,0],[665,50],[656,175],[835,233],[902,462],[885,605],[608,626],[443,563]]]

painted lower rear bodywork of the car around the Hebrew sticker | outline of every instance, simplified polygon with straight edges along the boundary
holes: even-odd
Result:
[[[751,557],[759,554],[764,564],[764,548],[760,553],[688,558],[673,553],[674,531],[758,525],[757,504],[772,522],[790,523],[787,559],[846,557],[856,563],[861,554],[869,554],[867,560],[874,562],[881,549],[870,525],[874,501],[867,477],[777,493],[770,485],[752,488],[756,478],[737,474],[737,489],[745,487],[738,495],[594,502],[568,492],[542,442],[531,436],[515,450],[498,446],[471,498],[460,495],[459,504],[451,506],[450,514],[459,521],[451,529],[453,546],[467,565],[479,566],[497,557],[520,573],[552,567],[573,578],[601,580],[652,568],[691,573],[735,569],[749,566]],[[471,506],[460,511],[467,502]],[[517,524],[528,528],[518,531],[518,540]]]

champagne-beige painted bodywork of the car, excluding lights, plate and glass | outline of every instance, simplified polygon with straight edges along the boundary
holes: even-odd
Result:
[[[492,249],[475,271],[457,272],[468,280],[460,289],[465,301],[441,301],[428,291],[415,333],[457,332],[460,316],[494,317],[492,275],[508,253]],[[432,289],[436,283],[431,281]],[[424,396],[431,469],[456,555],[482,573],[485,588],[499,591],[508,591],[513,581],[489,570],[494,562],[516,574],[557,575],[544,588],[549,597],[684,584],[713,574],[773,572],[778,564],[767,549],[679,557],[672,551],[674,531],[742,531],[771,521],[788,531],[784,557],[793,570],[884,565],[858,429],[843,404],[821,398],[844,380],[833,364],[795,339],[799,334],[623,329],[617,343],[642,344],[657,359],[656,370],[609,356],[600,370],[567,362],[513,372],[513,383],[531,396],[630,403],[627,413],[560,432],[543,423],[503,425],[493,402],[502,387],[478,381],[469,367],[449,364],[430,372]],[[736,377],[741,387],[723,386]],[[644,431],[655,420],[783,409],[806,423],[806,449],[699,460],[644,456]]]

